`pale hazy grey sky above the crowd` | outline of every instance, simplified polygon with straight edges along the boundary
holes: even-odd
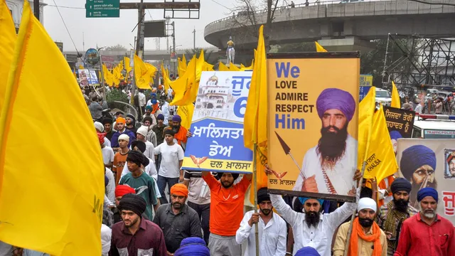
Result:
[[[120,10],[119,18],[85,18],[85,0],[41,0],[48,4],[44,7],[44,26],[56,42],[63,42],[63,50],[87,50],[88,48],[115,46],[120,44],[125,48],[134,46],[134,36],[137,30],[137,10]],[[124,2],[140,2],[140,0],[120,0]],[[184,1],[184,0],[180,0]],[[188,1],[188,0],[186,0]],[[196,47],[210,47],[204,40],[205,26],[231,14],[238,0],[199,0],[199,19],[171,19],[176,24],[176,48],[193,48],[193,30],[196,29]],[[290,3],[290,0],[286,0]],[[310,0],[312,2],[314,0]],[[55,3],[54,3],[55,2]],[[144,0],[144,2],[164,2],[164,0]],[[295,4],[305,0],[294,0]],[[55,5],[59,6],[57,9]],[[72,7],[72,8],[65,8]],[[74,44],[66,31],[63,20],[73,38]],[[164,10],[146,11],[145,21],[164,19]],[[83,46],[85,43],[85,47]],[[132,46],[130,46],[130,44]],[[169,38],[172,45],[172,38]],[[146,38],[144,48],[155,50],[154,38]],[[160,40],[160,50],[166,50],[166,38]]]

